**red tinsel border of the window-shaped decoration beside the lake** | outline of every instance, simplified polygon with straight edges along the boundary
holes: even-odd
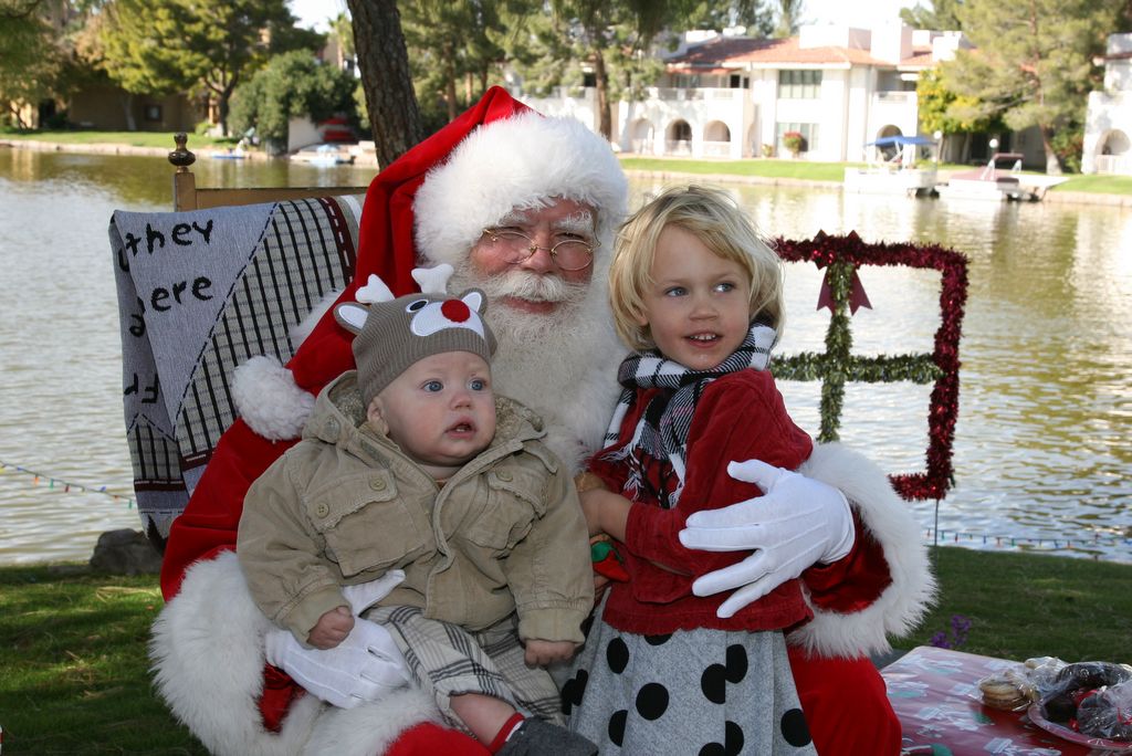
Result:
[[[931,359],[942,375],[935,381],[928,407],[927,471],[889,478],[904,499],[942,499],[951,488],[954,473],[951,453],[959,414],[959,336],[967,302],[967,258],[938,244],[866,243],[852,231],[844,237],[818,232],[805,241],[778,239],[775,249],[784,260],[809,261],[820,268],[848,263],[855,267],[903,265],[940,272],[940,328],[935,332]]]

